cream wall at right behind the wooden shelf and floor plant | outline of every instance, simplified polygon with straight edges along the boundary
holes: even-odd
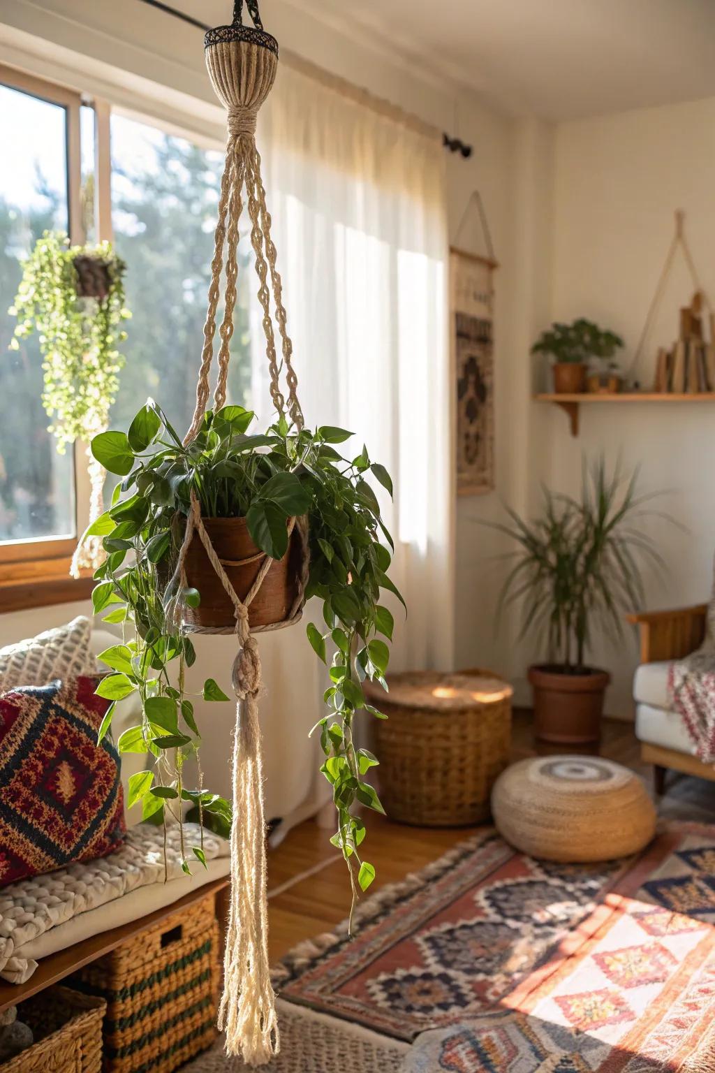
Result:
[[[701,281],[715,299],[715,99],[564,123],[556,135],[552,315],[583,314],[625,339],[628,366],[673,233],[673,211],[685,209],[686,230]],[[677,311],[692,286],[677,264],[647,355],[635,374],[653,377],[654,348],[677,333]],[[543,323],[548,322],[548,318]],[[542,326],[542,325],[540,325]],[[525,358],[525,354],[524,354]],[[715,496],[715,406],[598,406],[581,408],[581,435],[569,436],[564,414],[532,405],[546,424],[542,475],[576,490],[582,454],[605,451],[624,466],[641,467],[644,490],[665,491],[654,506],[687,532],[644,519],[667,562],[666,576],[646,574],[651,608],[704,600],[712,583]],[[596,661],[613,670],[607,711],[629,716],[637,663],[635,641],[609,645]]]

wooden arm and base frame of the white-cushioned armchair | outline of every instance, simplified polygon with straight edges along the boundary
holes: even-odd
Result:
[[[694,652],[705,636],[706,617],[706,604],[629,615],[628,621],[640,629],[641,663],[679,660]],[[642,740],[641,759],[646,764],[654,765],[655,789],[659,794],[662,793],[669,768],[715,780],[715,768],[712,765],[703,764],[696,756],[675,749],[666,749]]]

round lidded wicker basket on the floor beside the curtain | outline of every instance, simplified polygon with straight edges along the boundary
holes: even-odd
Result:
[[[494,780],[509,762],[511,687],[481,670],[392,675],[389,687],[368,687],[389,717],[375,723],[388,817],[424,827],[485,820]]]

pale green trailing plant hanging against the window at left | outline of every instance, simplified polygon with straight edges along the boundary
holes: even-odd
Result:
[[[44,357],[42,403],[60,454],[77,439],[89,442],[104,431],[119,387],[124,358],[119,344],[126,338],[124,262],[109,242],[70,246],[66,235],[46,231],[23,265],[11,342],[38,333]],[[87,451],[91,481],[90,521],[102,514],[104,469]],[[104,557],[101,542],[80,543],[72,574],[96,569]]]

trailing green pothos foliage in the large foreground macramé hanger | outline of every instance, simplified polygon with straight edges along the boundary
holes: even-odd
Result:
[[[180,803],[189,800],[220,826],[230,821],[228,803],[205,790],[188,788],[183,769],[197,758],[200,730],[194,700],[185,688],[185,668],[195,661],[191,638],[174,623],[175,602],[198,606],[195,589],[172,591],[173,574],[189,514],[192,493],[205,517],[245,517],[255,544],[273,559],[288,547],[288,518],[307,515],[310,527],[310,579],[307,599],[323,602],[323,623],[308,624],[308,640],[329,667],[325,692],[327,715],[318,732],[325,762],[321,770],[332,787],[338,826],[331,842],[349,869],[353,906],[359,888],[374,879],[361,857],[366,826],[360,806],[384,812],[369,782],[377,764],[354,739],[355,720],[367,712],[385,718],[369,704],[366,679],[385,689],[393,617],[381,603],[381,591],[402,597],[388,577],[392,540],[381,518],[372,476],[391,495],[383,466],[366,447],[344,458],[336,446],[351,432],[328,426],[298,430],[284,416],[266,433],[249,435],[254,414],[239,406],[208,411],[196,438],[183,445],[157,403],[149,399],[128,433],[108,431],[92,441],[94,457],[123,477],[113,503],[86,535],[103,539],[106,561],[95,572],[95,613],[121,622],[124,641],[101,659],[110,668],[98,688],[113,702],[100,731],[107,733],[117,701],[138,693],[141,722],[125,731],[120,752],[148,752],[153,769],[132,776],[129,803],[141,804],[146,818],[165,821],[169,809],[180,822]],[[204,685],[205,701],[227,701],[219,685]],[[183,849],[183,841],[182,841]],[[202,847],[192,847],[204,862]],[[187,853],[184,870],[189,870]]]

